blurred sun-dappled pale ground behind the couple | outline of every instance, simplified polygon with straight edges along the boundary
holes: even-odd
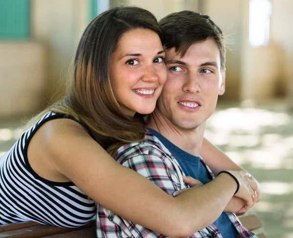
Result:
[[[256,108],[219,104],[206,137],[261,183],[254,206],[269,238],[293,238],[293,115],[285,105]],[[0,155],[21,135],[21,121],[0,121]]]

